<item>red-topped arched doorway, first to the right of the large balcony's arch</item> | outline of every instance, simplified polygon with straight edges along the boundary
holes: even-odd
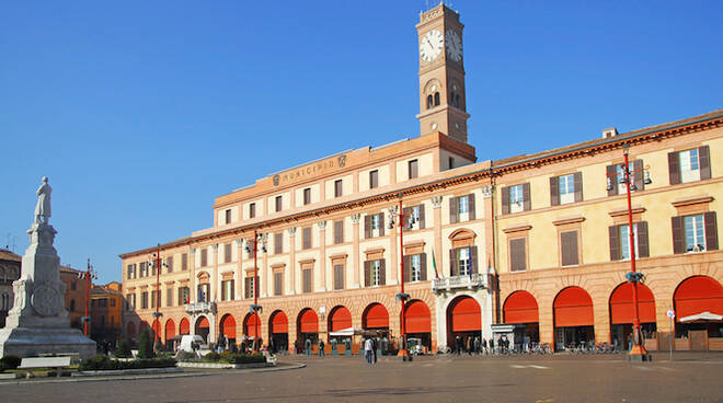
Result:
[[[504,322],[515,324],[515,344],[529,346],[540,343],[540,324],[537,300],[527,291],[515,291],[507,297],[503,308]]]

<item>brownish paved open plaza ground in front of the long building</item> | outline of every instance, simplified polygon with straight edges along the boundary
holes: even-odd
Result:
[[[5,402],[723,402],[723,354],[624,356],[285,357],[306,368],[133,380],[0,383]]]

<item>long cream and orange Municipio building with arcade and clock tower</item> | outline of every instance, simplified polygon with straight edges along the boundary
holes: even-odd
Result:
[[[623,343],[631,322],[627,198],[616,176],[623,146],[635,169],[650,345],[670,331],[668,308],[723,314],[714,163],[723,111],[478,162],[459,14],[440,4],[416,27],[421,136],[257,180],[216,198],[211,228],[122,254],[127,337],[152,327],[162,339],[223,334],[238,343],[259,329],[276,349],[318,338],[354,348],[333,333],[376,330],[393,343],[403,325],[434,352],[509,324],[516,343]],[[260,314],[251,310],[256,287]],[[705,348],[723,339],[715,324],[677,331],[689,348],[703,333]]]

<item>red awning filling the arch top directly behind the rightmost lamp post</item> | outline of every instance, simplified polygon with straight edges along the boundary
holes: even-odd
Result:
[[[626,324],[633,322],[632,283],[624,283],[610,296],[610,323]],[[638,285],[638,316],[641,323],[655,323],[655,297],[647,286]]]

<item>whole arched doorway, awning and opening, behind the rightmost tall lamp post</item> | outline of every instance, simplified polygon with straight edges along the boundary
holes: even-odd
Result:
[[[610,335],[617,349],[630,347],[634,314],[633,285],[623,283],[610,295]],[[647,286],[638,285],[638,316],[643,336],[651,338],[657,330],[655,324],[655,297]]]

